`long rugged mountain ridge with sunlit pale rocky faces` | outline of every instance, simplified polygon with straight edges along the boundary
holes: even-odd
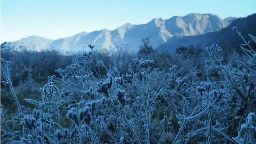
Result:
[[[30,36],[20,41],[11,42],[14,44],[26,43],[26,46],[35,50],[45,48],[57,48],[61,51],[89,50],[84,46],[95,45],[96,48],[110,49],[116,46],[128,45],[129,51],[137,51],[143,38],[150,38],[153,47],[169,39],[176,39],[181,36],[195,36],[209,32],[219,31],[227,27],[234,17],[222,20],[213,14],[190,13],[186,16],[174,16],[169,19],[155,18],[146,24],[133,25],[126,23],[115,30],[99,30],[90,33],[81,32],[74,36],[49,40],[39,36]],[[30,45],[29,45],[30,44]]]

